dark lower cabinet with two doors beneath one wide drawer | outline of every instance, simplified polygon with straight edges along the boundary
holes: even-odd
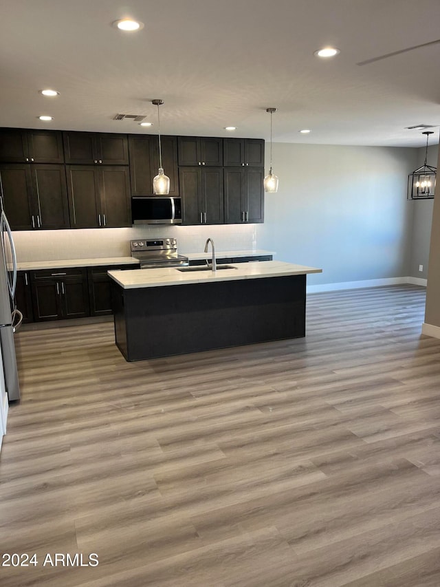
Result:
[[[89,316],[86,268],[32,271],[35,321]]]

